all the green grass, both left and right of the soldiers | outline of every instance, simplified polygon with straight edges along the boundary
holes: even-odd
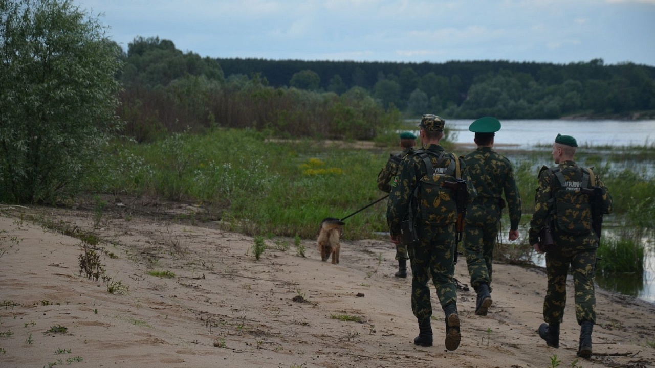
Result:
[[[377,189],[376,179],[388,153],[400,151],[393,136],[384,136],[367,148],[309,139],[280,141],[254,130],[220,128],[203,135],[174,134],[149,144],[120,141],[98,160],[98,171],[87,188],[93,193],[202,204],[208,218],[221,219],[227,229],[245,234],[314,238],[324,217],[346,217],[386,194]],[[443,144],[453,149],[448,141]],[[514,164],[523,234],[534,210],[538,170],[544,164],[554,166],[547,151],[521,153]],[[641,155],[643,151],[639,150]],[[513,154],[504,155],[512,158]],[[655,227],[652,175],[599,166],[599,154],[591,148],[580,150],[577,160],[583,166],[595,166],[614,198],[610,219],[634,235],[629,238]],[[344,237],[369,238],[388,231],[385,213],[383,200],[349,217]],[[196,219],[202,221],[202,215]],[[503,221],[508,223],[506,215]],[[605,242],[610,245],[609,239]],[[616,244],[617,248],[626,246]],[[531,257],[530,249],[530,244],[521,243],[501,250],[510,261],[525,261]]]

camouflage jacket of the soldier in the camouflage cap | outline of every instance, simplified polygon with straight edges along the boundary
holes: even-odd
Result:
[[[425,145],[423,149],[437,153],[437,155],[445,152],[441,145],[436,144]],[[445,159],[438,166],[436,165],[436,156],[431,155],[430,160],[434,168],[447,168],[451,164],[452,158],[450,155],[446,155]],[[468,203],[470,203],[476,197],[476,189],[473,187],[471,178],[468,176],[464,160],[462,158],[458,158],[458,160],[460,162],[460,177],[466,181]],[[409,213],[411,196],[413,196],[414,190],[424,175],[426,175],[426,168],[419,155],[415,153],[407,155],[400,162],[398,174],[394,177],[391,185],[392,191],[389,193],[389,202],[386,209],[386,221],[392,236],[400,234],[400,223],[407,213]],[[436,227],[441,224],[432,225]]]

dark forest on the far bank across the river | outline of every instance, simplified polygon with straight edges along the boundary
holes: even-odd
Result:
[[[407,115],[557,119],[632,117],[655,109],[655,67],[603,60],[567,65],[474,61],[434,63],[218,59],[225,75],[259,73],[271,86],[341,94],[362,87]]]

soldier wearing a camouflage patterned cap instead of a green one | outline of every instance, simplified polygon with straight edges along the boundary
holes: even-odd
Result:
[[[458,164],[460,177],[466,180],[466,189],[470,200],[476,195],[476,190],[471,185],[464,161],[451,153],[445,153],[443,147],[439,145],[439,141],[443,137],[444,124],[445,121],[440,117],[427,114],[422,116],[419,125],[421,128],[422,149],[432,151],[436,155],[443,153],[441,159],[429,155],[432,170],[434,170],[433,175],[426,175],[428,174],[426,164],[424,164],[419,151],[417,151],[417,153],[407,155],[403,159],[398,168],[398,175],[394,177],[392,191],[389,194],[386,218],[389,223],[392,241],[395,244],[398,244],[400,240],[401,222],[411,211],[410,204],[415,189],[419,187],[419,181],[429,179],[428,176],[439,177],[439,172],[444,172],[447,168]],[[443,193],[445,198],[451,198],[449,194],[445,193],[445,190],[446,188],[444,188],[444,192],[440,193]],[[439,200],[435,200],[433,203],[419,202],[419,208],[434,208],[434,212],[438,212],[438,210],[444,208],[443,206],[454,206],[450,201],[454,203],[454,199],[449,199],[447,204],[443,204]],[[431,212],[429,217],[425,213],[423,214],[424,217],[422,217],[421,212],[417,213],[417,232],[420,242],[409,246],[407,249],[412,268],[411,305],[414,316],[419,322],[419,336],[414,339],[414,344],[421,346],[432,345],[432,327],[430,325],[432,304],[430,302],[430,287],[428,286],[428,282],[432,278],[441,308],[445,312],[445,346],[448,350],[455,350],[461,339],[460,321],[457,313],[457,287],[453,281],[457,213],[454,213],[453,216],[441,216],[443,218],[440,218],[432,214],[434,212]]]

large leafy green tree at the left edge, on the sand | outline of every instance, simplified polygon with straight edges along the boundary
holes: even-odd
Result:
[[[105,30],[70,0],[0,0],[0,201],[75,194],[119,127]]]

